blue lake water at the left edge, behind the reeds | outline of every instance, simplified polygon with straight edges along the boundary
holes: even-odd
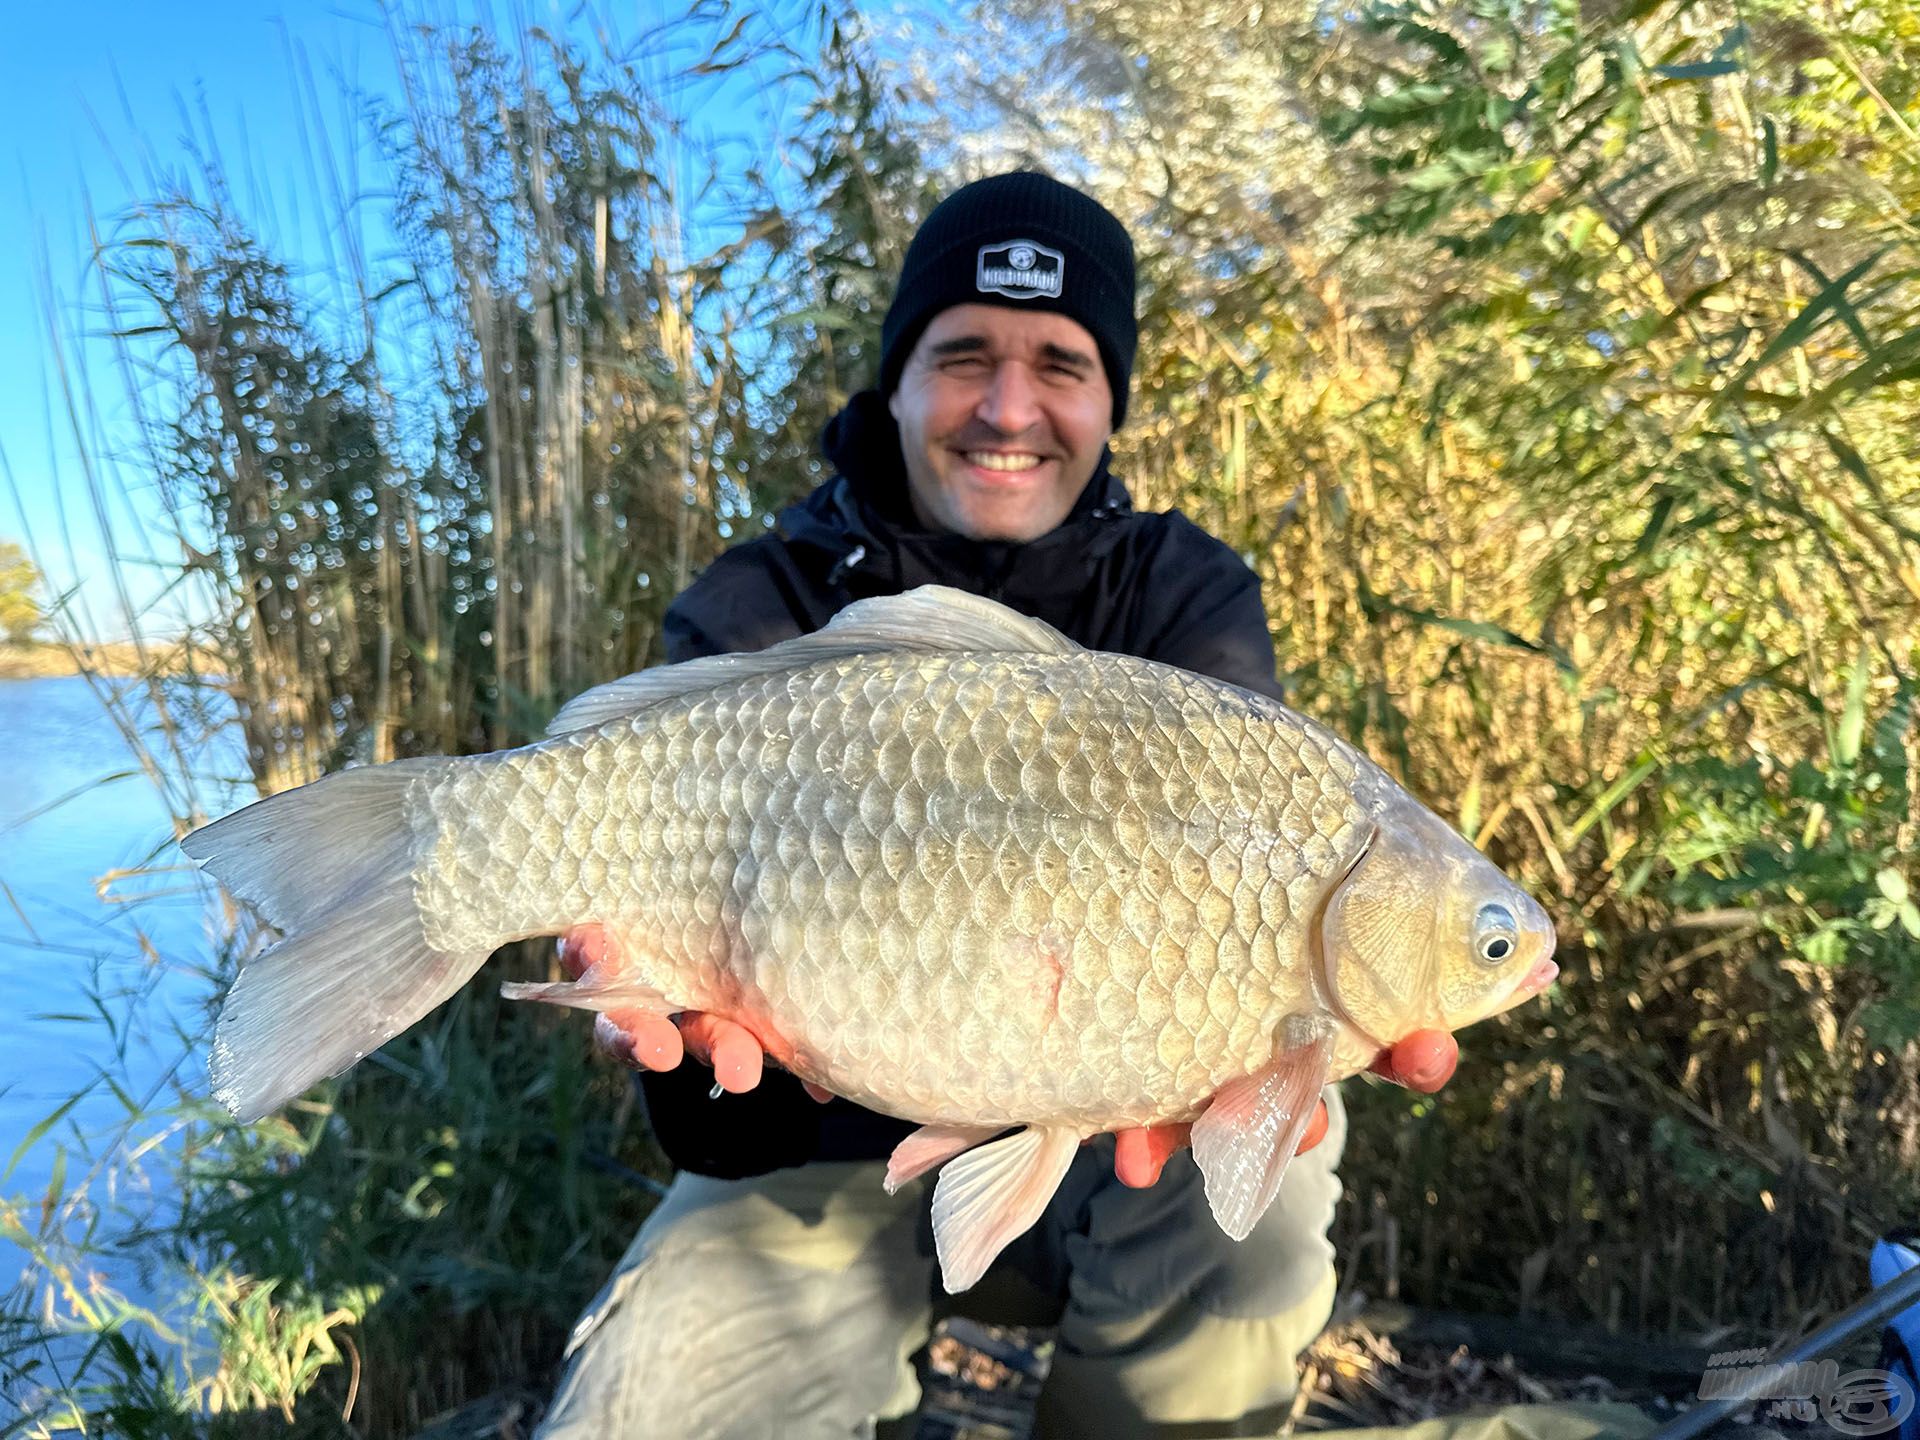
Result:
[[[84,680],[0,682],[0,1165],[84,1092],[0,1181],[0,1194],[36,1202],[56,1164],[73,1185],[127,1117],[102,1075],[138,1102],[156,1091],[165,1102],[169,1071],[204,1085],[204,1060],[175,1025],[188,1035],[204,1025],[213,947],[207,891],[177,870],[184,860],[167,803]],[[196,747],[192,768],[207,778],[202,804],[213,814],[236,803],[236,745],[227,732]],[[119,870],[148,874],[109,887],[131,899],[102,899],[100,877]],[[134,1139],[157,1129],[144,1125]],[[144,1173],[163,1179],[165,1167]],[[134,1213],[156,1198],[142,1190],[138,1169],[111,1167],[96,1183],[102,1202]],[[38,1210],[29,1208],[29,1223]],[[0,1240],[0,1292],[25,1267],[27,1254]],[[109,1265],[108,1279],[138,1294],[131,1263]]]

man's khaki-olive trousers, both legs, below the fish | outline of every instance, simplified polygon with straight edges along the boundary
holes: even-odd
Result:
[[[912,1357],[943,1313],[1058,1327],[1044,1440],[1271,1434],[1334,1300],[1331,1087],[1327,1110],[1327,1139],[1238,1244],[1187,1152],[1131,1190],[1102,1137],[987,1277],[939,1302],[931,1177],[889,1196],[879,1162],[682,1175],[574,1329],[540,1436],[872,1436],[918,1404]]]

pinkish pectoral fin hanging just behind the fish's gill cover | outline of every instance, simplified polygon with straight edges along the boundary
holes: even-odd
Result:
[[[1273,1204],[1313,1119],[1332,1064],[1332,1025],[1319,1018],[1288,1021],[1281,1046],[1263,1069],[1223,1085],[1194,1121],[1194,1164],[1208,1204],[1235,1240],[1244,1240]]]

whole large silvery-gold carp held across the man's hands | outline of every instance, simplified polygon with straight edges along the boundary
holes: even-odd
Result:
[[[1244,1236],[1329,1079],[1553,977],[1546,912],[1346,741],[933,586],[601,685],[538,745],[328,776],[184,849],[284,935],[213,1041],[242,1119],[497,947],[597,924],[605,962],[509,993],[728,1016],[922,1121],[887,1183],[943,1165],[948,1290],[1085,1137],[1129,1125],[1196,1121]]]

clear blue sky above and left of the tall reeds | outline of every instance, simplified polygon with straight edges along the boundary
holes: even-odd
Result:
[[[806,10],[801,0],[776,0],[774,8]],[[595,0],[591,12],[578,0],[520,0],[492,12],[478,6],[495,25],[576,35],[595,27],[626,36],[684,10],[662,0]],[[407,13],[447,19],[476,13],[476,4],[424,0]],[[313,88],[301,106],[305,75]],[[315,227],[334,209],[324,196],[307,194],[303,156],[319,144],[317,115],[328,129],[326,148],[353,157],[357,184],[378,190],[376,159],[351,123],[359,92],[397,98],[376,0],[69,0],[10,8],[0,44],[0,453],[21,507],[0,476],[0,538],[21,540],[23,530],[33,538],[52,588],[77,588],[83,624],[96,636],[125,634],[125,620],[109,582],[115,566],[54,388],[46,290],[58,300],[63,342],[83,332],[67,363],[92,380],[84,394],[98,407],[96,445],[104,440],[109,453],[129,453],[125,386],[108,367],[108,348],[84,338],[104,328],[86,267],[88,207],[109,227],[131,200],[152,196],[165,175],[194,173],[194,148],[215,148],[246,221],[296,273],[321,280],[328,244]],[[764,94],[753,90],[703,115],[751,132],[762,102]],[[361,205],[359,213],[376,259],[386,244],[380,207]],[[117,574],[129,578],[134,605],[144,607],[175,559],[154,522],[152,480],[131,461],[108,476],[104,490],[121,557]],[[144,555],[159,564],[144,564]]]

